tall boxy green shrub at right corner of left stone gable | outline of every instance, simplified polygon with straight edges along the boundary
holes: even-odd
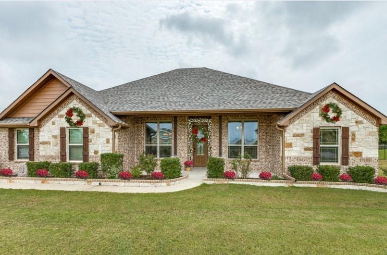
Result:
[[[101,170],[108,179],[117,179],[118,173],[123,170],[123,154],[101,154]]]

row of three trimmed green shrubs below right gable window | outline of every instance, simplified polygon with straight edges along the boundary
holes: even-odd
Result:
[[[310,181],[314,174],[313,168],[310,166],[294,165],[288,168],[290,175],[296,180]],[[375,169],[368,166],[355,166],[348,169],[348,174],[352,177],[353,182],[359,183],[373,183],[375,176]],[[339,181],[340,168],[338,166],[319,165],[317,166],[317,173],[321,175],[322,181]],[[317,177],[315,175],[314,177]],[[316,178],[313,178],[316,179]],[[341,178],[342,181],[348,181],[349,177]]]

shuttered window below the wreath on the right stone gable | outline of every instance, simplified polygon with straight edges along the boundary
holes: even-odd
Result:
[[[338,164],[339,140],[338,128],[320,128],[320,163]]]

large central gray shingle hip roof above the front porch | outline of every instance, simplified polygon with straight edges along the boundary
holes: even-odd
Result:
[[[110,112],[297,108],[311,95],[208,68],[176,69],[98,94]]]

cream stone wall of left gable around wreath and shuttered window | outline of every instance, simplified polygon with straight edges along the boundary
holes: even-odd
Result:
[[[79,97],[71,96],[40,124],[39,161],[60,161],[60,128],[69,127],[64,117],[71,107],[79,107],[86,115],[83,127],[89,127],[89,161],[99,162],[102,153],[112,151],[112,131],[106,119]]]

